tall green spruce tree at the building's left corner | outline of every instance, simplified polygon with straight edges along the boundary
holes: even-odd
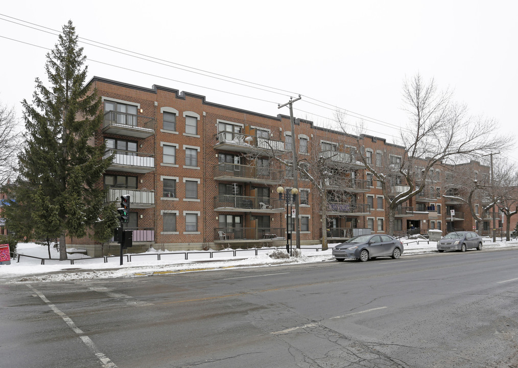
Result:
[[[106,233],[98,224],[111,226],[117,216],[113,204],[105,207],[106,190],[100,186],[112,157],[103,159],[105,146],[93,145],[103,121],[102,102],[83,86],[85,59],[68,21],[47,54],[51,87],[36,78],[33,103],[22,102],[25,147],[19,154],[18,183],[12,186],[16,201],[6,213],[10,228],[33,237],[59,237],[60,260],[67,258],[66,236],[83,237],[95,224],[96,232]],[[9,218],[26,223],[17,226]]]

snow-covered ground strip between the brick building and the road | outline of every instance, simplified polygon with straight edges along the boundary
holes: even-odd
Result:
[[[404,243],[404,254],[435,252],[437,246],[435,242],[420,240],[416,242],[414,239],[401,239]],[[176,256],[164,254],[161,260],[157,260],[157,251],[151,249],[147,252],[147,256],[132,257],[131,262],[127,262],[124,256],[124,264],[120,265],[120,258],[109,258],[108,263],[104,263],[103,259],[89,259],[82,254],[69,254],[69,258],[81,259],[71,265],[70,261],[58,261],[59,253],[52,248],[52,258],[56,260],[45,261],[45,265],[40,264],[40,260],[28,257],[22,257],[18,260],[11,260],[10,265],[0,265],[0,282],[23,282],[23,281],[57,281],[57,280],[84,280],[84,279],[101,279],[114,277],[139,277],[152,274],[180,273],[203,270],[217,270],[228,267],[268,267],[279,264],[300,264],[332,261],[332,247],[336,244],[330,244],[326,251],[315,251],[313,249],[303,249],[303,256],[300,258],[290,259],[272,259],[268,256],[274,250],[261,250],[258,256],[255,256],[254,250],[242,251],[237,253],[237,257],[233,257],[232,252],[214,251],[213,258],[209,253],[189,251],[189,260],[184,260],[183,255]],[[484,238],[484,248],[506,248],[518,247],[518,240],[505,240],[492,243],[490,238]],[[303,247],[304,248],[304,247]],[[309,247],[308,247],[309,248]],[[70,249],[68,249],[70,250]],[[48,250],[46,246],[34,243],[19,243],[18,253],[28,256],[48,258]],[[196,254],[199,253],[199,254]],[[163,254],[163,253],[162,253]]]

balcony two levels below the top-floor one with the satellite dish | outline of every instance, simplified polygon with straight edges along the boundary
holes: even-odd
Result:
[[[214,211],[282,213],[284,201],[267,197],[222,194],[214,196]]]

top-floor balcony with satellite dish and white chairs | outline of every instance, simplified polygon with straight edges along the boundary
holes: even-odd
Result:
[[[219,132],[215,138],[216,144],[214,149],[234,152],[257,152],[257,150],[264,150],[265,152],[271,150],[284,151],[284,142],[282,140],[272,140],[234,132]]]

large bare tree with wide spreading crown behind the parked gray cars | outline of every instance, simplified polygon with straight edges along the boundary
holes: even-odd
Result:
[[[420,74],[405,80],[402,90],[404,110],[409,120],[400,131],[400,142],[405,155],[400,161],[390,163],[393,175],[404,179],[406,190],[391,192],[391,182],[384,171],[368,161],[366,142],[362,126],[356,131],[359,159],[368,171],[381,183],[387,203],[389,226],[387,232],[394,232],[396,209],[426,187],[430,169],[441,163],[455,163],[480,153],[502,149],[509,143],[509,137],[495,135],[497,124],[484,117],[469,117],[467,107],[453,101],[450,90],[440,91],[434,79],[424,81]],[[346,121],[336,114],[343,131]],[[385,168],[386,170],[386,168]]]

